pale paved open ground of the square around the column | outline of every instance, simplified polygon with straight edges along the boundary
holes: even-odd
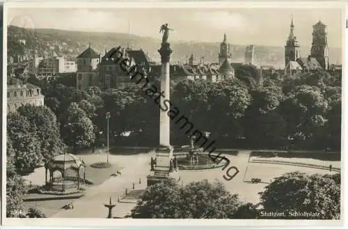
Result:
[[[242,201],[255,204],[259,201],[258,192],[262,191],[262,189],[267,185],[268,182],[271,181],[271,179],[278,177],[283,173],[292,171],[301,171],[308,174],[329,173],[329,171],[316,168],[286,166],[280,164],[248,163],[250,152],[251,151],[247,150],[239,151],[237,156],[228,155],[228,152],[224,154],[225,157],[230,159],[230,166],[236,166],[239,169],[239,173],[230,181],[223,179],[223,175],[226,175],[228,168],[225,170],[222,170],[221,168],[214,168],[201,171],[179,171],[174,173],[174,175],[175,177],[180,177],[180,184],[187,184],[189,182],[204,179],[211,182],[219,180],[226,185],[226,189],[228,189],[231,194],[239,194],[239,198]],[[106,158],[106,155],[104,154],[79,156],[84,159],[88,165],[93,164],[95,161],[102,161]],[[126,188],[129,191],[132,190],[133,182],[136,190],[145,189],[146,176],[150,174],[150,158],[154,156],[154,152],[141,153],[137,155],[109,155],[109,161],[112,164],[117,165],[116,168],[120,168],[122,175],[118,175],[116,177],[110,176],[101,184],[88,188],[86,190],[86,194],[79,199],[48,200],[35,204],[40,207],[49,217],[106,218],[108,211],[103,204],[108,202],[109,197],[111,197],[112,201],[116,203],[116,207],[113,209],[113,217],[125,217],[136,204],[134,201],[122,200],[122,198],[121,203],[118,203],[118,198],[125,193]],[[311,163],[327,164],[327,161],[313,161],[313,159],[308,160],[310,160]],[[306,159],[302,159],[302,161],[306,161]],[[339,164],[339,161],[333,161],[333,163]],[[86,168],[87,178],[88,168],[90,168],[90,166]],[[40,183],[45,177],[44,173],[45,171],[38,169],[32,175],[26,177],[26,179],[31,180],[33,184]],[[262,183],[252,184],[251,182],[247,182],[250,181],[251,178],[260,178]],[[139,179],[141,179],[141,184],[139,184]],[[73,209],[61,209],[63,205],[69,203],[70,201],[73,202]],[[25,204],[33,205],[33,203],[30,202]]]

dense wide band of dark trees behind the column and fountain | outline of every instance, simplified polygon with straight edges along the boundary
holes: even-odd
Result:
[[[303,72],[289,76],[274,72],[265,73],[260,81],[259,70],[244,67],[236,70],[239,77],[226,81],[171,81],[171,103],[195,129],[207,132],[221,147],[340,150],[340,74]],[[258,84],[245,80],[246,77]],[[158,79],[152,84],[159,86]],[[98,138],[106,138],[105,117],[110,112],[109,134],[114,137],[113,143],[158,143],[159,104],[136,84],[122,89],[77,90],[56,82],[42,91],[45,104],[56,114],[62,131],[68,109],[76,102],[93,123]],[[176,127],[175,120],[171,126],[172,143],[186,145],[187,136]],[[129,137],[122,138],[124,132],[129,132]],[[100,142],[96,139],[94,145]]]

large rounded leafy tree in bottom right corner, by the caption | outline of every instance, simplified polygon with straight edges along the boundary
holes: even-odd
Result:
[[[265,187],[260,204],[267,212],[319,212],[320,216],[311,219],[340,219],[340,179],[285,173]]]

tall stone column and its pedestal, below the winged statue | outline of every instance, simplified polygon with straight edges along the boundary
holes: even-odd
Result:
[[[168,42],[161,43],[161,49],[158,50],[161,55],[161,91],[164,91],[164,97],[161,97],[160,104],[170,98],[170,69],[171,47]],[[169,109],[168,109],[169,110]],[[167,112],[159,109],[159,147],[156,149],[156,167],[153,175],[148,176],[148,186],[171,179],[170,161],[173,157],[173,147],[170,143],[171,119]]]

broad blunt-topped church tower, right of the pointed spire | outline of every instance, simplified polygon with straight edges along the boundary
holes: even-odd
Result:
[[[329,47],[327,45],[327,26],[318,22],[313,26],[313,42],[310,49],[310,56],[317,58],[317,61],[324,70],[329,69]]]

